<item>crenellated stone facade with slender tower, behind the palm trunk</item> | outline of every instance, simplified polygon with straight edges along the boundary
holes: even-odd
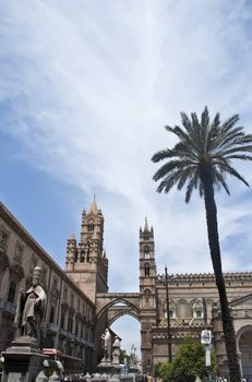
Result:
[[[252,273],[227,273],[224,276],[241,372],[249,377],[252,374]],[[155,363],[168,360],[168,308],[172,357],[185,337],[200,341],[201,332],[208,327],[213,333],[218,372],[227,375],[227,354],[214,274],[170,274],[167,284],[168,296],[166,275],[156,273],[154,231],[145,224],[144,229],[140,229],[140,321],[145,370],[151,372]]]

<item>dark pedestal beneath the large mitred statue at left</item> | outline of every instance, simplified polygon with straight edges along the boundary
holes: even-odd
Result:
[[[44,356],[35,338],[19,337],[2,353],[3,382],[34,382],[43,368]]]

